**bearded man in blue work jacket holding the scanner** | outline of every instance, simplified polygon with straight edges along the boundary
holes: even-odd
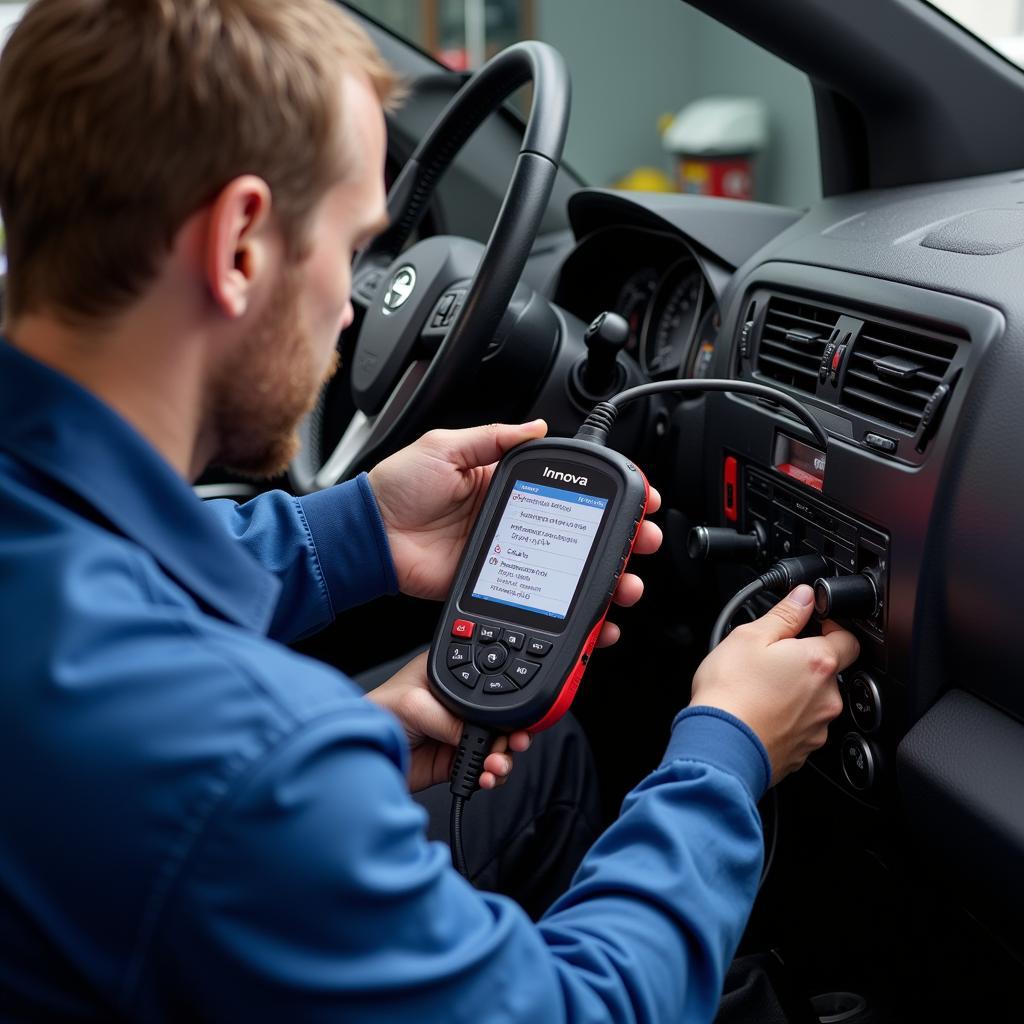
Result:
[[[191,496],[214,460],[279,469],[332,370],[389,83],[321,0],[38,0],[0,60],[8,1016],[710,1019],[756,801],[839,711],[856,641],[795,639],[801,588],[701,666],[534,925],[425,839],[409,787],[446,774],[457,723],[422,662],[377,692],[390,714],[282,645],[443,594],[489,465],[543,432],[435,433],[301,501]]]

